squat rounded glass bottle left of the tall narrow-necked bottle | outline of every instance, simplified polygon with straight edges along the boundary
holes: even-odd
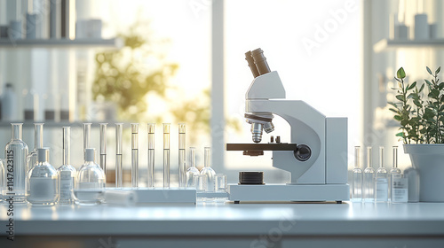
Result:
[[[36,166],[28,171],[27,200],[32,205],[55,205],[58,200],[58,176],[49,163],[49,148],[39,148],[37,158]]]

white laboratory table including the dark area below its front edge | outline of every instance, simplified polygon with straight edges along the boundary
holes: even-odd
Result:
[[[444,204],[14,206],[0,247],[444,247]]]

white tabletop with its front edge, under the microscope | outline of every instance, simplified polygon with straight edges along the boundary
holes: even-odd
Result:
[[[0,205],[0,227],[7,210]],[[444,236],[444,203],[14,205],[13,211],[16,235],[240,236],[277,228],[291,236]]]

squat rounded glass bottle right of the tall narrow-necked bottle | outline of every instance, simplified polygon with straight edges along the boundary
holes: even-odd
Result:
[[[75,197],[79,205],[98,205],[105,188],[105,174],[95,162],[96,150],[86,148],[85,161],[75,176]]]

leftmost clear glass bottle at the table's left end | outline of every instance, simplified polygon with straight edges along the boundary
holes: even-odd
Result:
[[[14,203],[26,202],[28,145],[21,140],[22,125],[23,123],[11,124],[11,141],[4,147],[4,156],[6,158],[4,171],[8,172],[5,174],[7,176],[4,177],[4,185],[6,187],[4,191],[6,191],[6,194],[14,196]],[[9,170],[12,168],[13,172],[9,173]]]

